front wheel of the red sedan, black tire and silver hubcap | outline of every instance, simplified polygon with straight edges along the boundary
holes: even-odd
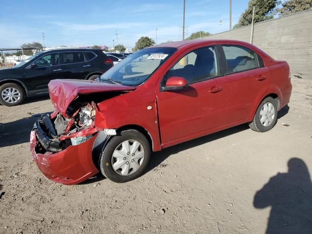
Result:
[[[126,142],[129,151],[126,150]],[[147,138],[137,130],[125,130],[113,137],[104,147],[99,168],[106,178],[124,183],[141,176],[149,164],[150,157],[151,146]]]

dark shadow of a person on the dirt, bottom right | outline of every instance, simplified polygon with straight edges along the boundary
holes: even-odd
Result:
[[[266,234],[312,234],[312,182],[303,160],[291,158],[254,195],[254,207],[272,206]]]

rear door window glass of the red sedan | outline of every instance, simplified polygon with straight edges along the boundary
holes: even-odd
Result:
[[[256,59],[257,55],[254,51],[235,45],[223,45],[222,48],[228,65],[228,73],[241,72],[259,67]]]

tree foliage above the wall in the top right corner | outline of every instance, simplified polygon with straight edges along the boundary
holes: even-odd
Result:
[[[282,3],[282,8],[276,9],[279,16],[287,16],[312,8],[312,0],[288,0]]]

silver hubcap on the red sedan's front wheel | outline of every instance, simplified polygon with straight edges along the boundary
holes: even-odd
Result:
[[[114,171],[121,176],[135,173],[144,160],[144,148],[137,140],[125,140],[114,150],[112,165]]]

